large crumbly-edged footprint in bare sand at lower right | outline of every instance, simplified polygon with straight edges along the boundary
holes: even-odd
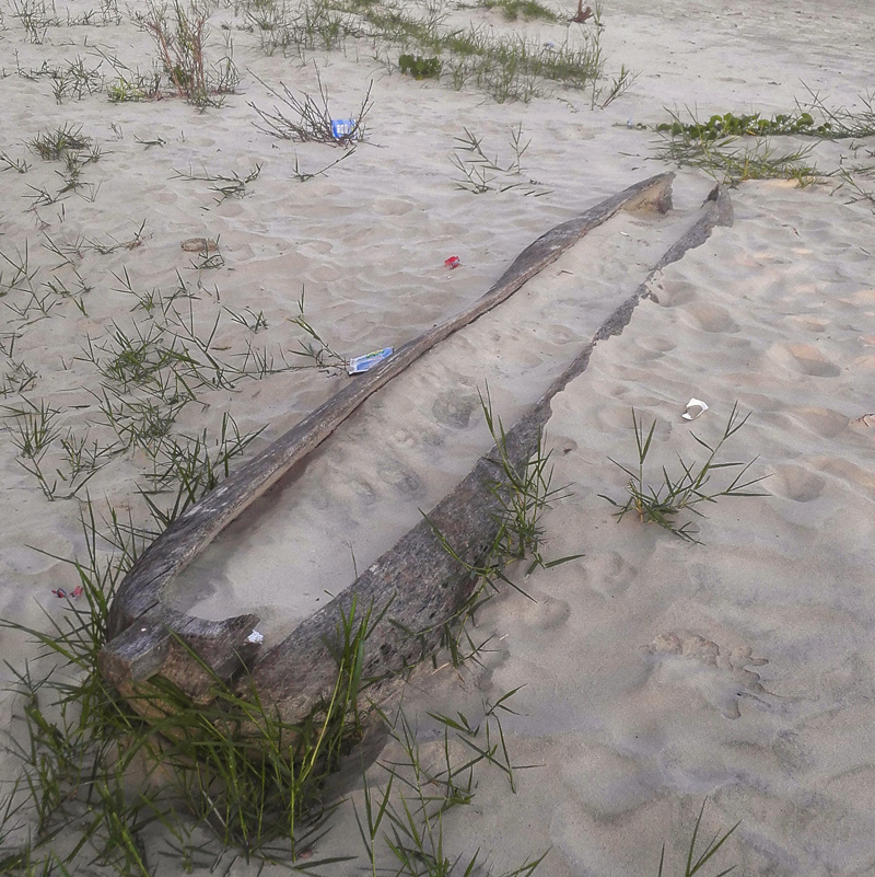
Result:
[[[761,695],[769,692],[760,684],[759,673],[746,669],[768,661],[754,658],[749,648],[721,648],[699,634],[672,631],[655,636],[644,651],[654,663],[651,679],[693,689],[725,718],[740,717],[742,697],[768,705]]]

